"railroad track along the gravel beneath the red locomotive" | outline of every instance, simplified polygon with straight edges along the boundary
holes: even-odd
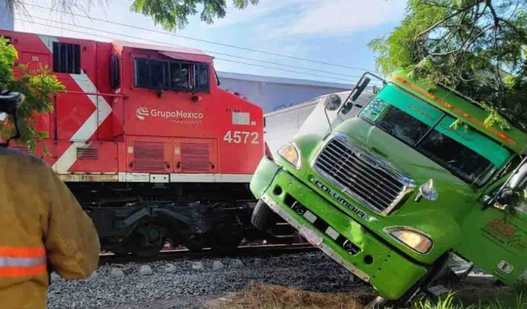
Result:
[[[99,264],[123,264],[130,262],[146,263],[153,261],[176,261],[194,260],[200,258],[226,258],[240,256],[280,256],[282,254],[301,254],[316,251],[311,244],[266,244],[238,246],[230,251],[214,251],[203,249],[202,251],[189,251],[188,249],[162,250],[157,256],[116,256],[115,254],[100,254]]]

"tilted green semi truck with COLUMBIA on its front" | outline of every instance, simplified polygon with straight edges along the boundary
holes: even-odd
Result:
[[[374,78],[384,86],[358,105]],[[428,88],[403,71],[367,73],[346,100],[328,96],[327,111],[360,112],[266,151],[251,182],[253,224],[265,230],[278,213],[378,301],[431,287],[453,254],[507,284],[527,277],[526,133]]]

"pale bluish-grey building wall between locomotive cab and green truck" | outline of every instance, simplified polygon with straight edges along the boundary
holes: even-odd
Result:
[[[263,77],[230,72],[217,73],[221,88],[242,94],[247,100],[262,107],[264,113],[304,103],[328,93],[351,89],[351,85],[324,81]]]

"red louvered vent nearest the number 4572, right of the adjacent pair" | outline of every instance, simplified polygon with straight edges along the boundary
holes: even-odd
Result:
[[[209,173],[211,167],[208,144],[181,143],[182,173]]]

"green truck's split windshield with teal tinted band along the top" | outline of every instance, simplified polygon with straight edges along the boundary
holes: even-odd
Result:
[[[391,84],[364,107],[360,117],[476,187],[510,157],[504,147],[475,129],[453,129],[454,117]]]

